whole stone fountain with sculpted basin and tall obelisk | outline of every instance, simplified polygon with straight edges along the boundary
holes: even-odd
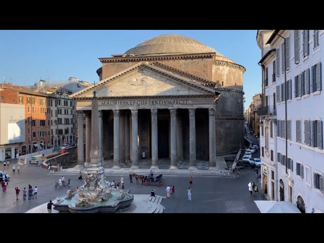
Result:
[[[131,206],[134,196],[126,190],[117,190],[105,179],[105,169],[101,165],[98,133],[98,102],[96,92],[92,98],[91,149],[89,167],[83,170],[87,175],[80,188],[68,190],[57,197],[54,210],[69,213],[115,213]]]

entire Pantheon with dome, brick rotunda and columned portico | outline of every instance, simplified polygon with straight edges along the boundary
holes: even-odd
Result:
[[[170,169],[233,153],[244,139],[245,68],[192,38],[167,34],[148,39],[125,54],[99,58],[100,81],[71,95],[76,101],[78,165],[90,163],[91,101],[99,109],[99,147],[113,168],[141,158],[169,159]],[[84,118],[85,117],[85,118]],[[84,134],[84,119],[86,130]]]

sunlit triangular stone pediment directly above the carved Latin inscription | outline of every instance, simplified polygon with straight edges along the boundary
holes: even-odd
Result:
[[[98,84],[71,95],[72,98],[132,96],[211,95],[215,90],[195,84],[171,72],[139,63]]]

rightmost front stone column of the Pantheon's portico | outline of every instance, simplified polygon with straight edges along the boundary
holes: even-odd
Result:
[[[215,109],[209,108],[209,170],[216,168],[216,133],[215,133]]]

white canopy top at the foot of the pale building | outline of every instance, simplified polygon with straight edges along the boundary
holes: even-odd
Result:
[[[291,213],[301,214],[299,209],[290,201],[268,201],[260,200],[254,201],[262,214],[269,213]]]

